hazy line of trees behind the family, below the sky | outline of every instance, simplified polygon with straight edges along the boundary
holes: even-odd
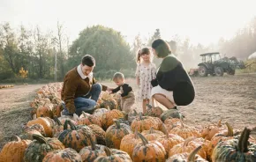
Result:
[[[236,56],[245,60],[256,51],[256,18],[230,40],[220,39],[217,44],[192,45],[189,38],[170,35],[172,53],[184,63],[186,69],[194,68],[200,62],[200,54],[220,51],[225,56]],[[0,24],[0,82],[19,80],[19,70],[28,70],[28,80],[63,81],[68,70],[80,63],[82,55],[94,55],[94,75],[106,79],[116,71],[126,77],[134,77],[135,57],[139,48],[151,46],[154,39],[161,38],[160,29],[146,40],[138,34],[132,44],[125,41],[122,33],[106,26],[90,26],[79,33],[72,42],[65,34],[64,26],[57,22],[56,33],[42,32],[40,26],[12,28],[9,23]],[[160,61],[154,59],[159,65]],[[56,72],[56,73],[55,73]]]

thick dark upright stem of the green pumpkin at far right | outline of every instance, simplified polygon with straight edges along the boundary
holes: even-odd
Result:
[[[239,137],[239,140],[238,140],[238,144],[237,144],[237,150],[240,151],[240,152],[247,152],[249,151],[248,150],[248,139],[249,139],[249,136],[250,136],[250,132],[251,130],[250,129],[247,129],[245,127],[245,129],[243,130],[241,136]]]

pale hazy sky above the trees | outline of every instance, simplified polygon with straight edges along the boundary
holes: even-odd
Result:
[[[87,26],[101,24],[131,42],[160,28],[162,38],[178,34],[193,43],[230,38],[256,16],[255,0],[0,0],[0,23],[56,29],[64,23],[71,40]]]

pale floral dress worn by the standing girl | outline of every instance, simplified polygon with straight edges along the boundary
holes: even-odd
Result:
[[[144,65],[139,63],[137,65],[136,77],[139,77],[139,91],[137,95],[137,99],[150,99],[151,98],[151,80],[155,78],[156,75],[156,67],[154,63],[149,63],[148,65]]]

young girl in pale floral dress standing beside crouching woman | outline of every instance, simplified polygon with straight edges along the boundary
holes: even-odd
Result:
[[[142,100],[143,114],[146,113],[146,107],[151,99],[152,89],[151,80],[155,78],[156,67],[152,63],[153,55],[149,48],[142,48],[137,55],[136,79],[139,86],[138,98]],[[152,102],[154,103],[154,102]]]

